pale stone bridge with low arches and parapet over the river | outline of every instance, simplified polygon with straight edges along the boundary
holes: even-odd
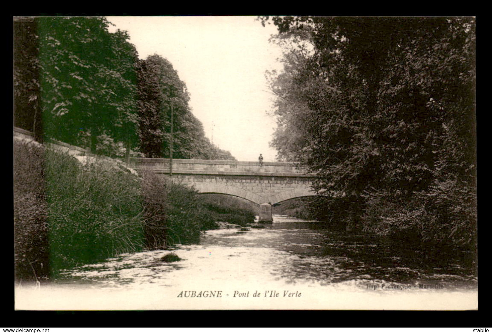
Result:
[[[314,174],[293,162],[218,161],[131,158],[130,167],[149,170],[191,186],[199,193],[227,194],[260,205],[259,220],[272,221],[272,204],[299,197],[314,196]]]

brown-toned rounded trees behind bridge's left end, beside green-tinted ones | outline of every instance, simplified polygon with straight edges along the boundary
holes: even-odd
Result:
[[[173,157],[234,160],[205,137],[201,122],[188,106],[186,85],[171,63],[159,55],[138,63],[140,150],[146,157],[169,158],[171,122]]]

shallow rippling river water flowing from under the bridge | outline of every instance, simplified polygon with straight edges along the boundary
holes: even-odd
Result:
[[[63,272],[61,283],[121,288],[128,285],[172,286],[176,280],[221,280],[231,276],[253,281],[282,280],[289,284],[328,285],[355,282],[359,288],[387,283],[446,289],[474,289],[472,267],[457,260],[424,258],[414,251],[367,235],[347,235],[316,221],[275,216],[265,229],[207,231],[199,245],[179,245],[173,250],[182,261],[159,260],[169,251],[124,254],[95,265]],[[205,269],[203,266],[213,266]],[[442,286],[442,287],[441,287]]]

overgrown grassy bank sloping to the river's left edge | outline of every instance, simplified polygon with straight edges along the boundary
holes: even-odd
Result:
[[[152,173],[137,176],[116,163],[78,161],[14,140],[17,280],[47,279],[121,253],[196,243],[200,230],[215,229],[214,221],[224,216],[237,224],[254,218],[226,210]]]

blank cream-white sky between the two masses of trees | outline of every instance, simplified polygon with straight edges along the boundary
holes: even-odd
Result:
[[[154,53],[178,71],[189,105],[205,134],[239,161],[275,161],[269,147],[276,127],[265,70],[281,68],[277,33],[256,16],[110,16],[126,30],[141,59]]]

